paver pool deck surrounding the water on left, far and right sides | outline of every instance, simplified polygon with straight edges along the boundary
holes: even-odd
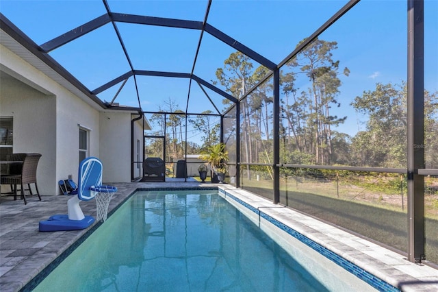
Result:
[[[398,287],[401,291],[438,291],[438,269],[410,263],[396,252],[366,241],[329,224],[302,215],[289,208],[279,208],[268,200],[227,184],[199,182],[109,183],[116,186],[109,212],[124,202],[138,188],[193,188],[218,186],[227,193],[281,221],[318,244],[350,260],[355,265]],[[64,195],[27,197],[27,205],[12,197],[0,202],[0,291],[20,291],[35,276],[73,245],[87,230],[39,232],[38,222],[55,214],[67,213]],[[274,207],[274,208],[272,208]],[[81,202],[84,215],[96,215],[94,200]],[[96,223],[94,223],[96,224]],[[92,228],[92,227],[90,227]]]

